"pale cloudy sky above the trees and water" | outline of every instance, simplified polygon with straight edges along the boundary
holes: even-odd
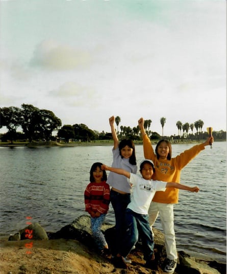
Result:
[[[0,16],[0,107],[99,132],[111,116],[226,130],[224,0],[0,0]]]

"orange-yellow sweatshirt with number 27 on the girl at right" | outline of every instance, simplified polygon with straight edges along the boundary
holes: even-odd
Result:
[[[152,143],[147,135],[143,136],[143,153],[146,159],[151,159],[155,165],[154,180],[180,183],[181,170],[191,159],[193,159],[201,150],[204,150],[204,144],[195,145],[185,150],[180,155],[167,159],[157,159],[152,147]],[[165,191],[157,191],[153,201],[161,203],[178,203],[179,189],[166,188]]]

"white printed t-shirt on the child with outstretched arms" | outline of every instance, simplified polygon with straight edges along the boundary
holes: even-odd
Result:
[[[165,181],[145,180],[141,175],[133,173],[130,173],[128,182],[134,185],[134,190],[127,208],[145,215],[148,214],[150,202],[156,191],[165,191],[167,184]]]

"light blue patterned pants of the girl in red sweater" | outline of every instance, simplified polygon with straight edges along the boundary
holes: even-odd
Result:
[[[101,231],[102,224],[105,220],[106,214],[101,214],[100,217],[91,217],[91,231],[94,237],[95,244],[99,250],[102,250],[107,245],[106,239]]]

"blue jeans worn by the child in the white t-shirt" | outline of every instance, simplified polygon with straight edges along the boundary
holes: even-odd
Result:
[[[127,257],[132,247],[138,242],[139,235],[141,237],[144,260],[152,259],[154,253],[154,240],[152,230],[150,229],[148,215],[138,214],[127,209],[125,213],[126,232],[122,244],[121,255]]]

